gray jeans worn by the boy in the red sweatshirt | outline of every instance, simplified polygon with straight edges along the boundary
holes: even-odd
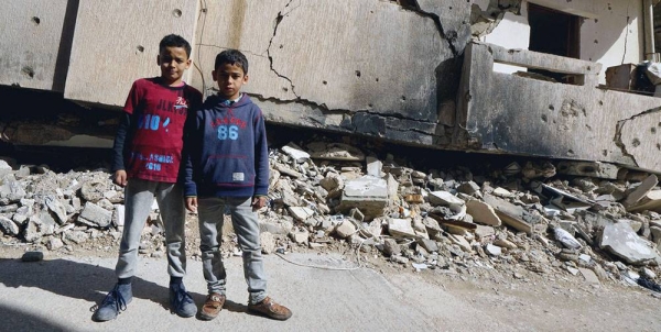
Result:
[[[181,185],[132,178],[129,179],[124,195],[124,226],[119,244],[119,259],[115,267],[117,277],[128,278],[136,274],[140,235],[151,212],[154,197],[165,226],[167,274],[183,277],[186,274],[186,214]]]

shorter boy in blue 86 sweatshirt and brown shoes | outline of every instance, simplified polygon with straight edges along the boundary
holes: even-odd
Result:
[[[198,212],[204,278],[208,296],[199,318],[212,320],[225,303],[226,272],[219,251],[227,208],[243,256],[248,310],[286,320],[292,312],[267,296],[257,210],[269,189],[269,152],[262,112],[241,93],[248,59],[236,49],[216,56],[212,75],[218,93],[209,96],[187,122],[186,209]]]

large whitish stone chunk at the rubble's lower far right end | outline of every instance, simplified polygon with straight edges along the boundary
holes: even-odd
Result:
[[[625,222],[604,228],[599,246],[622,258],[628,264],[640,265],[659,257],[655,245],[641,239]]]

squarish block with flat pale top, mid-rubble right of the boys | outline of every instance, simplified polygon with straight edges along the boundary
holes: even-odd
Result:
[[[346,213],[358,208],[365,215],[365,221],[371,221],[383,214],[388,199],[388,184],[384,179],[362,176],[345,184],[337,211]]]

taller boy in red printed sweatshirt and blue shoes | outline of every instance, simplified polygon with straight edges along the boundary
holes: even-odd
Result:
[[[115,268],[117,284],[96,309],[91,317],[95,321],[117,318],[133,298],[131,278],[136,274],[140,235],[154,197],[165,226],[171,310],[181,317],[197,312],[182,283],[186,274],[186,210],[177,180],[184,124],[188,112],[202,103],[202,93],[182,80],[191,67],[191,44],[182,36],[163,37],[156,62],[161,76],[133,82],[115,137],[113,181],[126,187],[124,226]]]

